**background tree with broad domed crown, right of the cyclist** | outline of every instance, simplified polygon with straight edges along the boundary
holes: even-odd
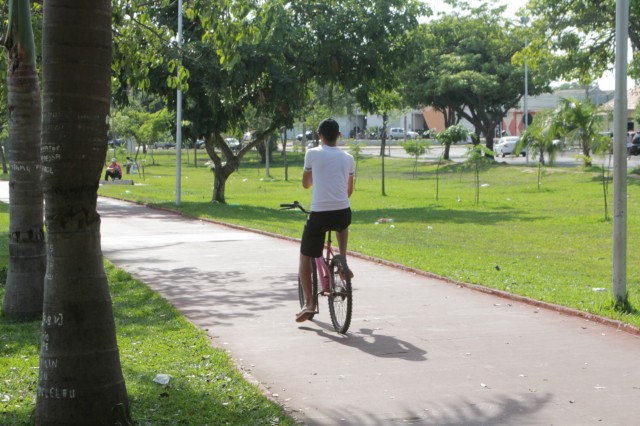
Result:
[[[452,3],[459,12],[424,24],[421,71],[414,77],[420,90],[412,99],[455,111],[484,135],[492,150],[496,126],[524,94],[524,66],[512,60],[524,48],[525,32],[504,19],[504,7]],[[549,90],[542,64],[528,78],[530,95]]]

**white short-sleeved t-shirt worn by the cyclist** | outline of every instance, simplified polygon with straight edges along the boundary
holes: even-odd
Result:
[[[311,211],[343,210],[349,205],[349,176],[355,173],[353,157],[337,146],[320,145],[307,151],[304,170],[313,176]]]

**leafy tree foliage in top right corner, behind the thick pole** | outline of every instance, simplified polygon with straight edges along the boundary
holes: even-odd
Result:
[[[640,2],[629,2],[629,40],[634,60],[629,69],[640,77]],[[530,59],[553,64],[553,78],[578,79],[581,84],[601,77],[615,61],[616,2],[614,0],[532,0],[523,12],[532,17]]]

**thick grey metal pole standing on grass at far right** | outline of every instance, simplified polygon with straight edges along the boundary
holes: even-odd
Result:
[[[613,104],[613,296],[627,300],[627,40],[629,0],[616,0],[616,90]]]

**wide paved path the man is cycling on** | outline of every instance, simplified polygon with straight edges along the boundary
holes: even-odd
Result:
[[[0,183],[0,201],[8,185]],[[105,256],[309,425],[630,425],[640,338],[355,257],[354,318],[296,323],[298,244],[99,200]],[[302,225],[301,225],[302,226]]]

